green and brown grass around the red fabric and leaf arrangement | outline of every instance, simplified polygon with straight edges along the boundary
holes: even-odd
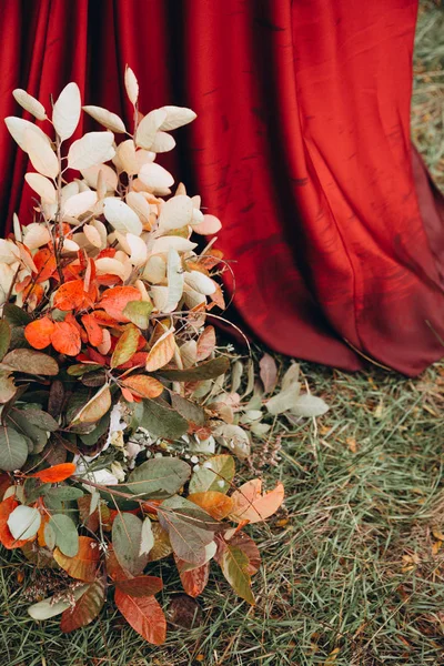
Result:
[[[443,28],[444,10],[430,4],[418,23],[413,111],[415,139],[442,184]],[[162,648],[139,639],[112,609],[63,636],[57,618],[38,626],[27,616],[32,567],[1,553],[1,663],[444,664],[444,366],[414,381],[373,369],[303,371],[332,408],[317,424],[275,425],[282,462],[264,475],[270,485],[284,481],[286,513],[254,529],[266,563],[254,581],[256,607],[214,571],[200,626],[170,628]],[[161,566],[168,607],[168,591],[180,584],[172,567]]]

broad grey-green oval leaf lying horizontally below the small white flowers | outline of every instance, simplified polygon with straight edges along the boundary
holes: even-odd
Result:
[[[134,495],[174,495],[190,478],[191,467],[176,457],[151,458],[129,476],[127,487]]]

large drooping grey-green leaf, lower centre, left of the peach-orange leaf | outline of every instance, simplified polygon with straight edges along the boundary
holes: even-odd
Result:
[[[195,566],[201,566],[206,561],[205,546],[213,541],[214,532],[209,529],[203,521],[193,519],[192,515],[184,513],[189,504],[192,503],[183,497],[176,496],[167,500],[158,509],[159,522],[169,533],[171,546],[176,556],[195,564]],[[181,508],[182,512],[180,513],[178,508]],[[211,519],[211,516],[209,517]]]

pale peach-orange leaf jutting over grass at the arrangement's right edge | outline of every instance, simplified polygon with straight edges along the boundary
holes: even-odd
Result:
[[[231,496],[233,509],[231,517],[235,523],[249,521],[259,523],[272,516],[284,501],[284,486],[278,483],[276,487],[264,495],[261,494],[262,481],[253,478],[241,485]]]

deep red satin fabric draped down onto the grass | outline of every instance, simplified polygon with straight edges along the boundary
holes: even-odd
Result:
[[[224,223],[248,329],[285,354],[406,374],[443,355],[441,195],[410,142],[415,0],[1,0],[0,115],[71,80],[121,113],[198,120],[160,161]],[[27,158],[0,130],[7,229]],[[350,345],[347,344],[350,343]]]

